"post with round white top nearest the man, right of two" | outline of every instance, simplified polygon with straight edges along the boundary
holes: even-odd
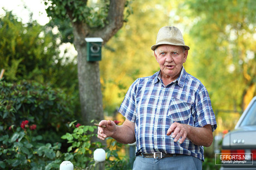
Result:
[[[95,161],[95,170],[104,170],[106,161],[106,152],[99,148],[93,152],[93,159]]]

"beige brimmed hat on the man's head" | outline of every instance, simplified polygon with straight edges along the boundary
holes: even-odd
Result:
[[[152,45],[151,49],[154,51],[156,47],[161,44],[180,45],[183,46],[186,50],[190,49],[187,45],[185,45],[183,35],[176,27],[168,26],[159,29],[156,37],[156,44]]]

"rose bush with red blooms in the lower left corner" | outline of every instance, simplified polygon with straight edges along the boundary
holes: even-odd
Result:
[[[92,152],[105,146],[91,142],[96,126],[68,122],[73,120],[71,110],[72,101],[61,90],[33,81],[1,80],[0,168],[58,169],[64,160],[76,169],[92,165]],[[106,148],[106,169],[129,167],[129,159],[117,154],[121,147],[113,140]]]

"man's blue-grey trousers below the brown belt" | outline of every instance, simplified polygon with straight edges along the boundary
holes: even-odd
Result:
[[[178,169],[178,170],[201,170],[202,163],[193,156],[179,155],[175,157],[166,157],[162,159],[144,158],[137,156],[134,161],[133,170],[151,170],[151,169]]]

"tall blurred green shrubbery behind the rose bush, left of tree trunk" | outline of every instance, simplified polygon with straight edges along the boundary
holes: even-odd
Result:
[[[6,11],[6,16],[0,18],[0,68],[6,70],[7,81],[36,80],[62,88],[74,101],[73,111],[79,112],[77,65],[75,59],[59,56],[57,39],[63,40],[66,35],[53,34],[52,30],[52,24],[22,24]]]

